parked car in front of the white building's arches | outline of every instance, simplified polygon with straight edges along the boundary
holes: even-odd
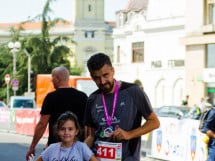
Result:
[[[154,111],[158,117],[173,117],[180,119],[189,113],[189,108],[185,106],[169,105],[155,108]]]

